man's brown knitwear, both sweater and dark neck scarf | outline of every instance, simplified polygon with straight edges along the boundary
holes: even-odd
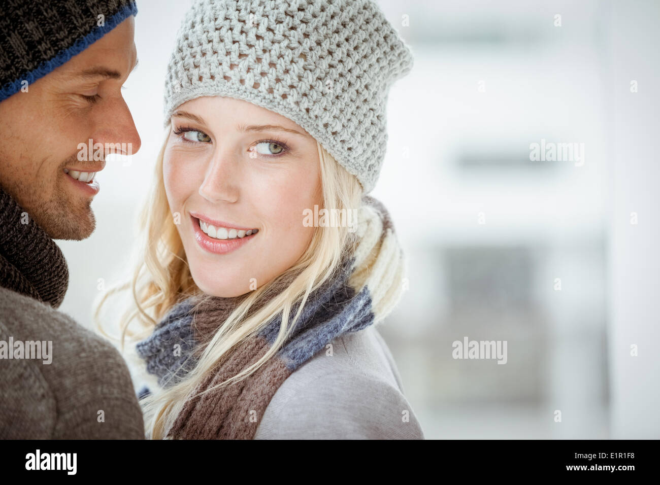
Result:
[[[1,188],[0,208],[0,439],[144,439],[119,352],[56,311],[61,250]]]

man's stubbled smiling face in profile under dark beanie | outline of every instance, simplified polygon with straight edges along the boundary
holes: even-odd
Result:
[[[0,102],[0,185],[53,239],[94,232],[98,183],[88,178],[108,153],[140,148],[121,96],[137,63],[133,32],[127,18],[27,92]]]

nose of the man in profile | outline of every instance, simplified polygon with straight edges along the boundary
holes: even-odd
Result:
[[[106,110],[99,114],[102,119],[97,126],[102,126],[102,129],[97,132],[94,141],[108,146],[106,156],[110,153],[132,155],[140,149],[140,135],[123,98],[113,100],[106,106]]]

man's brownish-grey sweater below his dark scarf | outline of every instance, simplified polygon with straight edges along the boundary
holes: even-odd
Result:
[[[114,346],[64,313],[0,288],[0,345],[10,338],[15,348],[51,341],[52,351],[49,359],[0,360],[0,439],[144,439],[131,377]]]

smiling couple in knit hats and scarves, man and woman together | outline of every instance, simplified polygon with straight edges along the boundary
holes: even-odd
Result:
[[[7,3],[0,342],[52,341],[53,356],[0,360],[0,437],[423,439],[374,328],[406,278],[367,193],[389,86],[413,65],[380,9],[195,0],[185,13],[141,264],[96,311],[134,339],[152,377],[136,395],[114,346],[57,311],[68,271],[53,240],[94,230],[105,162],[79,160],[77,146],[139,149],[121,96],[137,7]],[[304,224],[315,205],[356,211],[355,226]],[[131,307],[114,307],[116,294]]]

